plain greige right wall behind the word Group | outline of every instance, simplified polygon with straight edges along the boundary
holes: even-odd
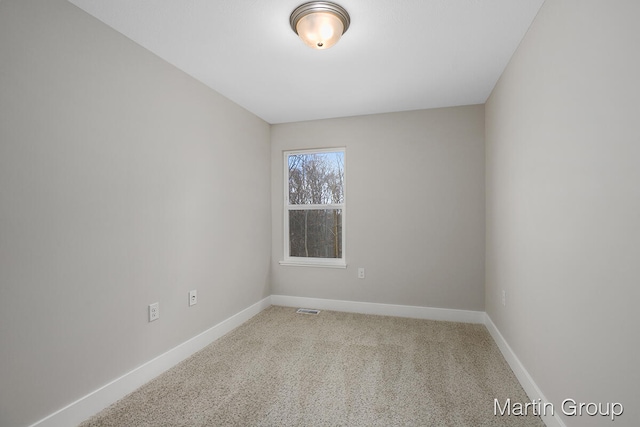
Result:
[[[567,426],[640,425],[638,16],[547,0],[485,106],[487,313]]]

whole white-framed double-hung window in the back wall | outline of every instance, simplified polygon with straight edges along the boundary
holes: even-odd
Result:
[[[284,261],[346,267],[344,149],[284,153]]]

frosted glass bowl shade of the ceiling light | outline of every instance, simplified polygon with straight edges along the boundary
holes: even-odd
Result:
[[[314,12],[300,18],[296,31],[307,46],[329,49],[342,37],[344,25],[333,13]]]

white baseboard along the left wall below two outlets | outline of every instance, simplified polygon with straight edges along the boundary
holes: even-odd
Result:
[[[271,305],[271,298],[264,298],[241,312],[229,317],[199,335],[172,348],[99,389],[87,394],[53,414],[32,424],[31,427],[68,427],[98,413],[143,384],[151,381],[167,369],[177,365],[195,352],[232,331]]]

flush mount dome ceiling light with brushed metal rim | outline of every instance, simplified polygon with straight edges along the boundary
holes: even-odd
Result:
[[[351,18],[340,5],[312,1],[298,6],[289,17],[293,31],[314,49],[329,49],[347,32]]]

